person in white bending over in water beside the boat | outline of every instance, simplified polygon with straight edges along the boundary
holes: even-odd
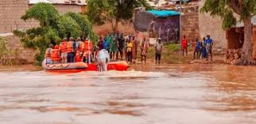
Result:
[[[106,49],[102,49],[101,51],[99,51],[99,53],[97,54],[99,71],[107,71],[107,65],[110,60],[110,54]]]

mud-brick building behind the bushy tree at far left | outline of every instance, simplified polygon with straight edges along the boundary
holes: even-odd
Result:
[[[23,21],[21,16],[25,11],[38,2],[48,2],[56,7],[59,13],[83,13],[86,9],[84,0],[0,0],[0,36],[5,36],[10,50],[19,51],[21,58],[33,62],[37,51],[25,49],[19,38],[12,32],[15,29],[25,30],[39,26],[35,20]]]

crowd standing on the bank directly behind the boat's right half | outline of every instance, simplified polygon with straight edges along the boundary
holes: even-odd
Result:
[[[98,42],[98,48],[106,49],[110,53],[111,61],[126,60],[129,63],[135,63],[138,58],[138,47],[141,47],[141,61],[146,61],[146,54],[149,48],[149,40],[143,39],[138,42],[135,36],[123,36],[122,33],[108,33],[107,36],[101,36]]]

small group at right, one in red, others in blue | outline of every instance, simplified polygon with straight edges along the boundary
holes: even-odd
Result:
[[[211,39],[211,36],[206,36],[207,39],[204,37],[203,41],[200,41],[198,38],[196,38],[195,42],[195,49],[193,54],[193,59],[206,59],[208,61],[208,58],[211,58],[212,61],[212,46],[213,41]],[[181,42],[181,49],[182,49],[182,55],[184,54],[188,55],[188,40],[186,39],[186,36],[182,39]]]

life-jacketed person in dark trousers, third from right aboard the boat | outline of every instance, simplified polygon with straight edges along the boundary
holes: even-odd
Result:
[[[69,41],[67,43],[67,54],[67,62],[74,62],[76,55],[76,42],[74,42],[74,39],[72,37],[69,38]]]

